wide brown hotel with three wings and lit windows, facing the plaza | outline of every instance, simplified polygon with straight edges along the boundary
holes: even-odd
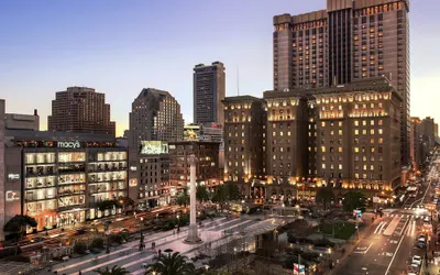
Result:
[[[400,183],[403,97],[385,77],[223,102],[224,180],[250,198],[323,185],[374,195]]]

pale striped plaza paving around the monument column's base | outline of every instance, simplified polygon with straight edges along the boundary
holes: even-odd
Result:
[[[205,242],[220,240],[224,231],[240,232],[243,228],[258,223],[255,220],[243,219],[216,219],[211,222],[206,222],[205,227],[199,229],[200,237]],[[179,234],[173,232],[160,232],[148,235],[145,243],[156,243],[156,250],[139,251],[139,240],[125,243],[109,254],[100,254],[98,256],[87,255],[80,258],[74,258],[64,264],[58,264],[53,267],[53,272],[57,274],[78,275],[79,271],[84,275],[96,274],[94,271],[97,268],[105,268],[106,266],[119,265],[127,268],[130,274],[143,274],[143,263],[151,262],[157,254],[158,250],[162,252],[166,249],[178,251],[188,257],[194,256],[195,252],[199,249],[198,245],[186,244],[183,240],[187,235],[187,229],[183,228]],[[164,253],[164,252],[163,252]],[[54,274],[45,273],[42,271],[40,275]]]

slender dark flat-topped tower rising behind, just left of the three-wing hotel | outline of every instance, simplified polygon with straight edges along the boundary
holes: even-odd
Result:
[[[221,100],[226,95],[224,66],[199,64],[194,67],[194,123],[223,125]]]

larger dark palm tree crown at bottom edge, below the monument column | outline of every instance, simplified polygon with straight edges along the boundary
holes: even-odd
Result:
[[[195,266],[187,261],[186,256],[180,255],[178,252],[163,253],[156,262],[150,264],[144,273],[145,275],[161,274],[161,275],[193,275],[195,274]]]

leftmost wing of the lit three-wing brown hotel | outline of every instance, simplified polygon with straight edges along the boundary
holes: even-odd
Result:
[[[224,182],[240,184],[250,198],[265,196],[266,111],[251,96],[227,97],[224,105]],[[251,183],[253,184],[251,186]]]

